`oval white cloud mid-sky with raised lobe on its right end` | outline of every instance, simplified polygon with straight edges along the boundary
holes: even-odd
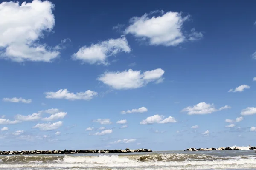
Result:
[[[164,71],[161,68],[143,73],[129,69],[122,72],[105,72],[97,79],[114,89],[134,89],[143,87],[149,82],[157,82],[163,74]]]

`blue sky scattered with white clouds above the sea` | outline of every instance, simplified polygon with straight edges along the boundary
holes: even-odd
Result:
[[[255,5],[0,1],[0,150],[253,145]]]

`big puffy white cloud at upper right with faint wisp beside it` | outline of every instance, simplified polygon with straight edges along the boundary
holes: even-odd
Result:
[[[159,14],[153,16],[153,14]],[[153,11],[141,17],[130,19],[131,25],[125,29],[125,34],[133,34],[137,38],[148,40],[150,45],[175,46],[188,40],[199,40],[202,33],[191,30],[191,34],[185,35],[182,32],[183,23],[189,16],[182,17],[178,12]]]

